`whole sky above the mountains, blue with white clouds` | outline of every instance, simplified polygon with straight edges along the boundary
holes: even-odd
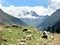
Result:
[[[0,0],[0,8],[13,16],[22,13],[22,10],[32,10],[40,16],[50,16],[60,9],[60,0]]]

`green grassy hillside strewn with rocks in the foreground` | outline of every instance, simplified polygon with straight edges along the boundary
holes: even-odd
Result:
[[[27,31],[23,31],[24,29]],[[0,26],[0,45],[47,45],[52,43],[54,39],[51,33],[48,39],[43,39],[42,34],[43,32],[35,27]]]

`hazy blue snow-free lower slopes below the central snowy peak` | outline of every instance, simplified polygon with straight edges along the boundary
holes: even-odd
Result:
[[[37,18],[20,18],[22,21],[26,22],[29,26],[37,27],[40,23],[42,23],[48,15],[46,16],[39,16]]]

